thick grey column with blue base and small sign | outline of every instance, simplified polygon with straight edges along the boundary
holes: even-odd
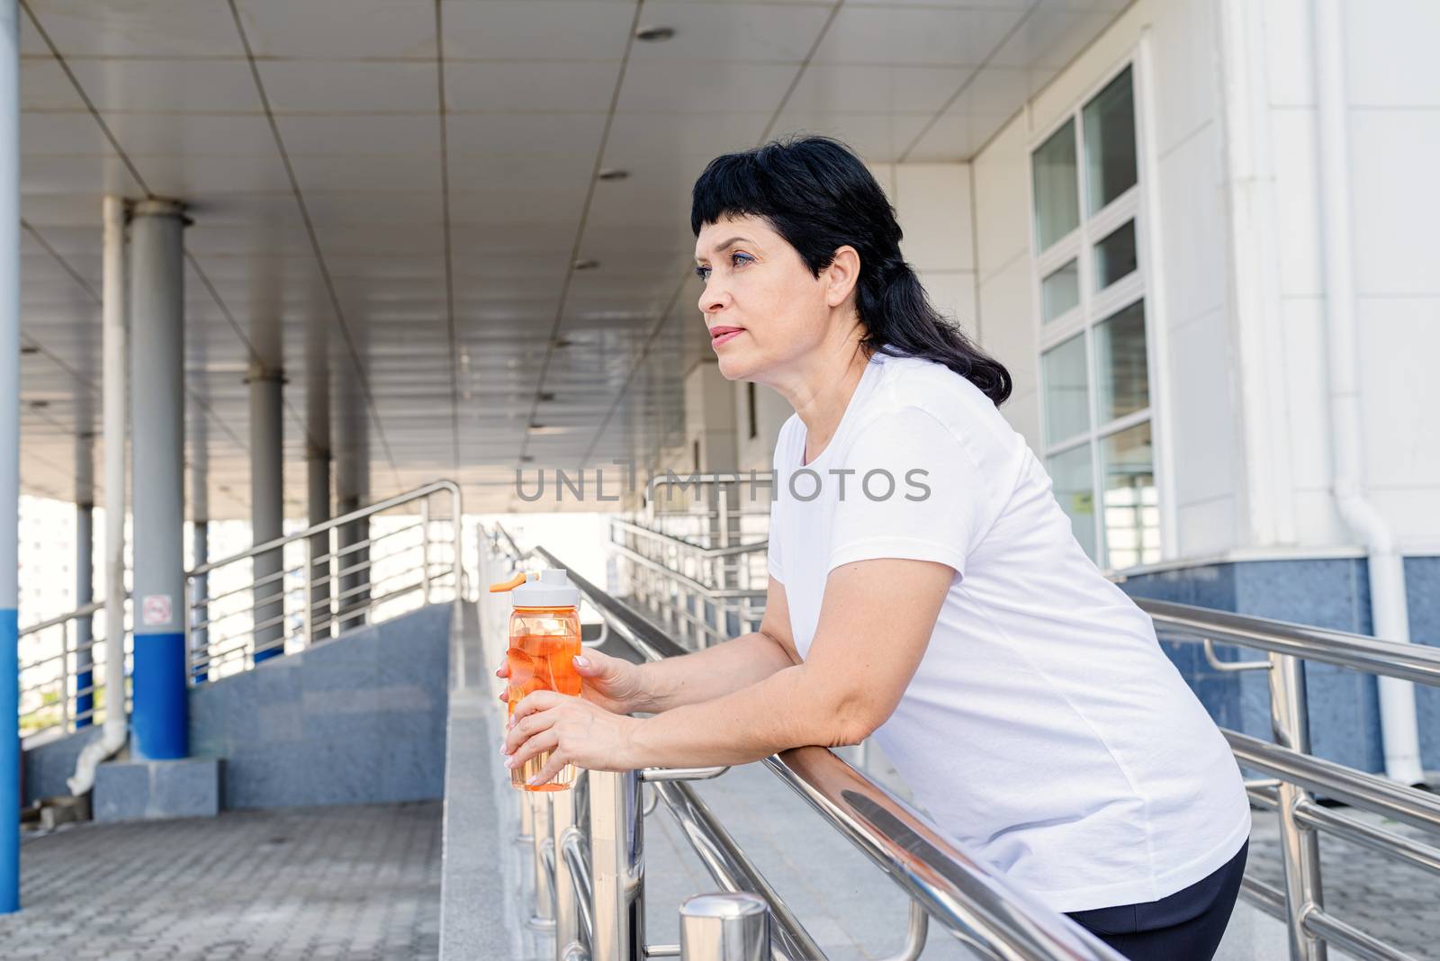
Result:
[[[143,200],[131,223],[131,450],[137,760],[183,758],[184,650],[184,207]],[[118,692],[112,692],[118,693]]]

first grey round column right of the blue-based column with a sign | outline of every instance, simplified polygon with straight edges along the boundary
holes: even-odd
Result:
[[[278,370],[252,365],[251,386],[251,544],[274,541],[284,534],[285,479],[281,465],[281,384]],[[253,574],[261,581],[279,575],[284,551],[275,548],[255,557]],[[259,584],[255,604],[255,663],[285,653],[285,584],[279,577]],[[266,621],[274,621],[266,624]]]

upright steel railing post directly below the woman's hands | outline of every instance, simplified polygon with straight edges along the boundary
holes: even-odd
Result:
[[[638,771],[590,771],[593,961],[645,958],[645,821]]]

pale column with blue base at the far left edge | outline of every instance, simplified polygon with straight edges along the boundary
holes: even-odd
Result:
[[[0,0],[0,914],[20,909],[20,30]]]

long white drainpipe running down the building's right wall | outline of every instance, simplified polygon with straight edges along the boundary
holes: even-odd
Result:
[[[1410,640],[1404,557],[1385,519],[1365,498],[1359,411],[1359,335],[1351,233],[1349,124],[1345,94],[1345,39],[1338,0],[1315,0],[1315,99],[1319,129],[1319,186],[1325,266],[1325,327],[1331,375],[1331,446],[1335,501],[1341,516],[1369,554],[1372,627],[1382,640]],[[1380,679],[1380,725],[1385,774],[1403,784],[1424,778],[1416,688]]]

